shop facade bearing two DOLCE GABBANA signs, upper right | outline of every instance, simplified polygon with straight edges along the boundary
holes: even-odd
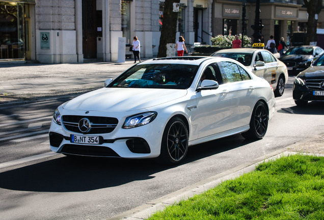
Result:
[[[242,33],[242,2],[213,1],[212,35],[235,35]],[[246,2],[246,34],[253,38],[251,25],[255,21],[256,1]],[[323,1],[324,2],[324,1]],[[303,0],[260,0],[261,34],[265,43],[273,35],[276,42],[283,37],[291,44],[294,32],[307,32],[308,14]],[[324,5],[324,4],[323,4]],[[318,14],[318,28],[324,28],[324,13]]]

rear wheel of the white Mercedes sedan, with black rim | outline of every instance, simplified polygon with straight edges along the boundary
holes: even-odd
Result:
[[[268,128],[269,113],[267,106],[262,101],[258,101],[253,108],[250,129],[242,133],[246,139],[262,139]]]

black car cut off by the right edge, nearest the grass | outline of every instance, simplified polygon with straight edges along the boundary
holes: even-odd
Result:
[[[296,105],[306,105],[308,101],[324,101],[324,54],[296,76],[292,97]]]

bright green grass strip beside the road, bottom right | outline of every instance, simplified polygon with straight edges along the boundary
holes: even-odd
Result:
[[[148,219],[324,219],[324,157],[263,162]]]

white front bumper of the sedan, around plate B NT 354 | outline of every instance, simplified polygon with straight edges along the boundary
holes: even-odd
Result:
[[[163,125],[156,118],[149,124],[123,129],[124,119],[111,133],[88,134],[99,136],[99,144],[72,143],[71,135],[85,135],[68,131],[52,121],[49,129],[50,149],[53,152],[96,157],[153,158],[160,154]]]

